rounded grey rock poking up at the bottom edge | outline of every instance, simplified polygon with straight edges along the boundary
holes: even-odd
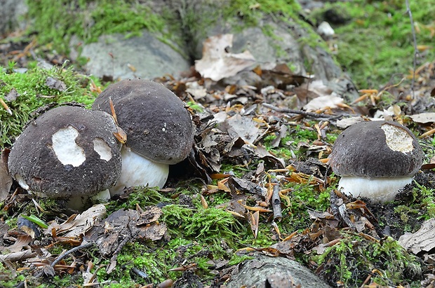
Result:
[[[232,275],[224,287],[330,288],[308,268],[287,258],[258,255],[241,265],[239,273]]]

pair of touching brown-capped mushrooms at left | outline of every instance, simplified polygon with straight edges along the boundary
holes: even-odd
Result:
[[[159,83],[114,83],[93,108],[57,107],[25,128],[8,158],[9,172],[22,188],[68,199],[67,207],[81,210],[97,194],[108,199],[125,187],[162,187],[169,165],[192,149],[191,116]]]

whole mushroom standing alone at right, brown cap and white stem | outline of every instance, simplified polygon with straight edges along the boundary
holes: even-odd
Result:
[[[342,193],[384,203],[413,181],[422,158],[422,148],[408,128],[368,121],[349,126],[337,137],[330,166],[341,176]]]

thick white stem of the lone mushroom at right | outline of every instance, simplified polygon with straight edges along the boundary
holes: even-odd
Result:
[[[338,189],[347,196],[385,203],[394,200],[399,190],[412,181],[412,177],[368,179],[344,176],[338,182]]]

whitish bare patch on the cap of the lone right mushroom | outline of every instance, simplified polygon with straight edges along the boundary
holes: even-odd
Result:
[[[381,125],[381,128],[384,130],[389,149],[402,153],[414,150],[413,137],[406,130],[388,123]]]

